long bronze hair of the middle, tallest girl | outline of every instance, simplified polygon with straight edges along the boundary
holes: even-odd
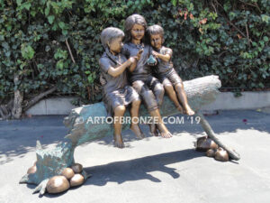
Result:
[[[131,29],[134,26],[134,24],[139,24],[142,25],[144,27],[144,30],[146,32],[148,24],[146,23],[146,20],[144,19],[143,16],[141,16],[140,14],[132,14],[130,15],[126,21],[125,21],[125,42],[131,42]],[[142,42],[144,42],[145,37],[142,38]]]

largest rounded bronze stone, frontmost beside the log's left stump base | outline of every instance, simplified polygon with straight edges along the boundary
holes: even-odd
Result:
[[[69,182],[65,176],[52,177],[46,186],[49,193],[58,193],[69,189]]]

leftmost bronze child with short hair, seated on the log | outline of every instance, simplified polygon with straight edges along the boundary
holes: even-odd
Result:
[[[121,117],[124,115],[126,106],[131,104],[130,129],[138,138],[143,138],[139,125],[133,123],[132,117],[139,116],[140,99],[134,88],[128,85],[127,71],[136,67],[136,60],[139,60],[140,52],[131,56],[129,60],[121,54],[122,39],[124,33],[114,27],[109,27],[101,33],[101,42],[104,53],[99,60],[100,69],[105,80],[103,84],[103,102],[109,115],[113,115],[114,144],[119,148],[124,147],[121,137]]]

